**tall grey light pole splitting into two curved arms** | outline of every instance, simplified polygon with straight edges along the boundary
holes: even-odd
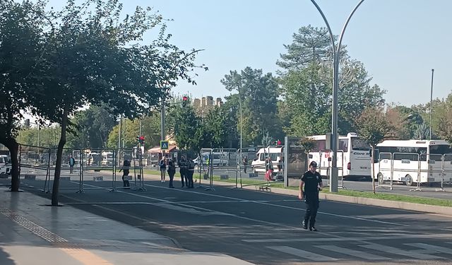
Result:
[[[333,159],[332,159],[332,167],[331,167],[331,175],[330,175],[330,192],[338,192],[338,176],[339,176],[339,169],[338,169],[338,90],[339,90],[339,57],[340,57],[340,45],[342,44],[342,39],[345,33],[345,29],[347,28],[347,25],[350,21],[350,18],[352,18],[353,13],[357,10],[357,8],[362,4],[364,0],[360,0],[359,3],[353,8],[352,13],[348,16],[347,20],[345,21],[345,24],[342,28],[342,31],[340,32],[339,36],[339,42],[338,46],[335,45],[334,42],[334,35],[331,31],[330,24],[328,23],[328,20],[326,19],[326,16],[323,14],[323,11],[319,7],[319,5],[316,3],[316,1],[311,0],[312,4],[316,6],[317,10],[321,14],[323,20],[326,23],[326,28],[328,28],[328,33],[330,34],[330,40],[331,45],[333,45],[333,111],[332,111],[332,128],[331,128],[331,151],[333,153]]]

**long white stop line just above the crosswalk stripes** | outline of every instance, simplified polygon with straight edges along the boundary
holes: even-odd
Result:
[[[328,241],[368,241],[368,240],[400,240],[408,238],[450,238],[452,234],[442,235],[386,235],[376,237],[321,237],[321,238],[268,238],[263,240],[242,240],[249,243],[262,242],[328,242]],[[451,242],[452,244],[452,242]]]

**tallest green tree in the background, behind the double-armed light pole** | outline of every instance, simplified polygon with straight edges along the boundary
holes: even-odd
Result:
[[[331,42],[325,28],[302,27],[292,45],[285,45],[277,64],[283,68],[280,84],[290,105],[287,134],[305,136],[331,131],[332,57]],[[364,65],[350,59],[345,47],[340,51],[338,92],[339,132],[356,129],[355,117],[367,105],[382,106],[384,90],[371,86]]]

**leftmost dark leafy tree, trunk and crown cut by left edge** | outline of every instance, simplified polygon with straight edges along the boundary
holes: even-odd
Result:
[[[42,1],[0,1],[0,143],[11,153],[11,191],[19,190],[18,143],[23,110],[35,96],[33,84],[40,80],[42,51]]]

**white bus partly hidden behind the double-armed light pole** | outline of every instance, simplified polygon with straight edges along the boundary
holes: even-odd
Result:
[[[326,136],[308,137],[315,141],[315,146],[308,154],[308,165],[316,161],[320,175],[329,176],[332,166],[330,150],[326,150]],[[355,133],[338,137],[338,167],[343,179],[371,178],[371,158],[369,143],[359,139]]]

